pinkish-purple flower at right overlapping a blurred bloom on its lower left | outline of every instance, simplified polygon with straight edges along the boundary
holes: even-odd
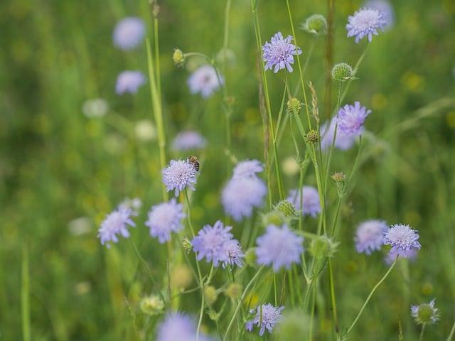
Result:
[[[354,102],[354,105],[346,104],[338,111],[336,123],[338,124],[338,133],[341,136],[359,136],[363,133],[363,122],[371,110],[360,107],[360,102]]]

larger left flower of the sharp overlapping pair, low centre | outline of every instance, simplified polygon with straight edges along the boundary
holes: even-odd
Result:
[[[208,262],[213,261],[213,266],[218,266],[220,259],[223,259],[225,242],[232,239],[231,229],[230,226],[225,227],[220,220],[213,226],[205,225],[191,241],[196,259],[200,261],[205,258]]]

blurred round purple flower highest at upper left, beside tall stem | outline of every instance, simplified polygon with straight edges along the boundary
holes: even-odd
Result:
[[[114,28],[114,44],[122,50],[132,50],[144,39],[145,25],[140,18],[129,16],[123,18]]]

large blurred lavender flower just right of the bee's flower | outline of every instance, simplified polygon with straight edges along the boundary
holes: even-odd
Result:
[[[259,178],[232,178],[225,185],[221,202],[227,215],[240,222],[250,217],[254,207],[262,206],[267,187]]]

